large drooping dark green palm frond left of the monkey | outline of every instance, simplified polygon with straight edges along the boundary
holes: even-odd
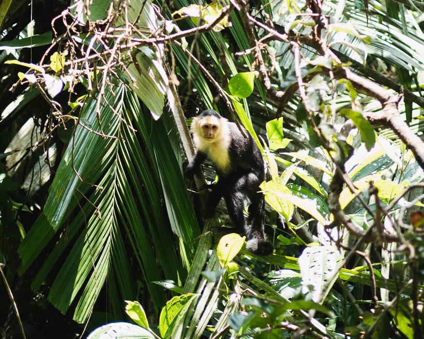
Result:
[[[32,287],[37,289],[40,286],[60,256],[68,251],[66,247],[81,233],[70,249],[49,294],[52,304],[65,312],[84,288],[74,316],[79,322],[89,316],[107,276],[108,280],[116,281],[120,292],[114,291],[113,295],[121,298],[121,302],[123,298],[135,298],[134,281],[124,250],[124,244],[128,244],[126,239],[130,240],[129,244],[156,309],[166,299],[161,288],[152,284],[152,281],[161,278],[153,248],[156,249],[166,278],[177,281],[186,275],[181,266],[182,258],[178,259],[173,246],[169,219],[164,217],[162,189],[168,197],[168,209],[173,211],[170,215],[174,216],[174,231],[186,239],[186,242],[181,243],[181,249],[185,248],[183,258],[187,267],[191,262],[191,242],[199,232],[187,190],[182,184],[178,163],[171,157],[163,165],[168,172],[159,175],[157,171],[157,161],[163,162],[167,158],[164,154],[169,152],[170,147],[163,124],[155,122],[150,113],[143,113],[134,94],[126,91],[121,84],[114,87],[114,92],[106,93],[109,104],[125,121],[107,106],[101,111],[99,124],[95,101],[85,106],[82,113],[85,124],[91,121],[91,128],[98,131],[100,125],[104,126],[103,131],[115,139],[104,139],[88,129],[77,127],[75,147],[74,143],[68,147],[52,184],[49,199],[53,202],[46,206],[45,214],[40,216],[20,247],[22,273],[51,240],[55,231],[61,228],[69,214],[77,214],[39,270]],[[129,111],[131,115],[128,117],[126,112]],[[141,138],[130,128],[129,118],[134,119]],[[164,149],[165,146],[168,148]],[[90,184],[82,182],[73,166],[82,178],[102,189],[91,189]],[[175,174],[179,176],[178,179]],[[82,194],[86,194],[86,197],[82,198]],[[179,199],[175,199],[176,196]],[[189,207],[191,214],[187,212]],[[50,219],[55,222],[54,228],[50,226],[46,215],[51,216]],[[33,236],[38,237],[40,234],[46,234],[42,237],[43,241],[31,242]],[[122,263],[118,264],[120,261]],[[119,300],[113,300],[113,305],[119,305]]]

